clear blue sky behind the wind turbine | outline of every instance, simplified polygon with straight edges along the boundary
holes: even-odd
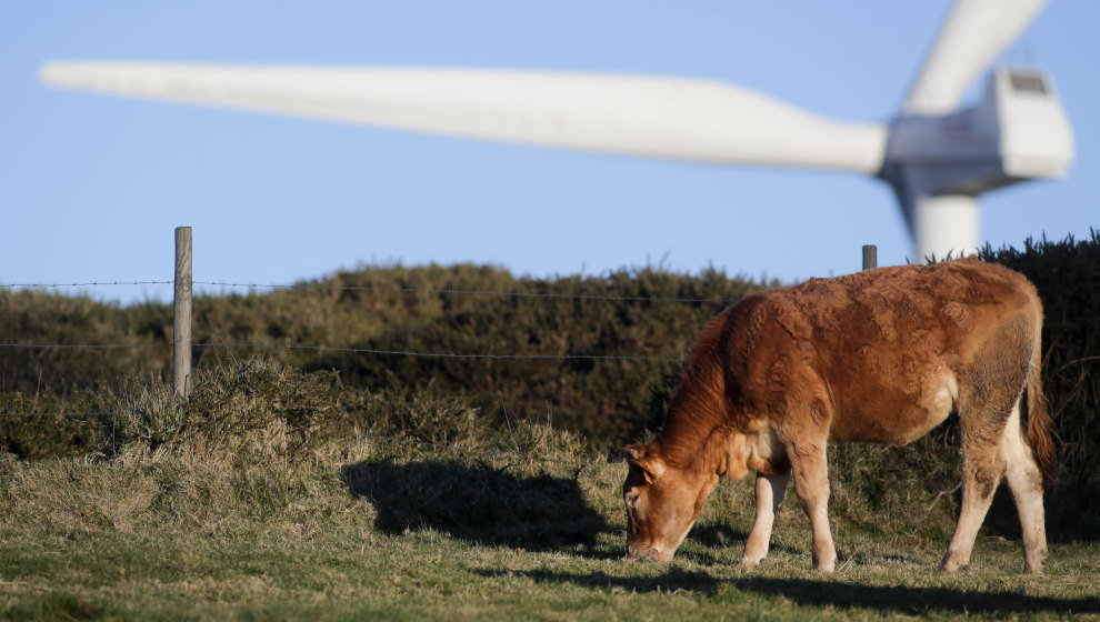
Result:
[[[890,189],[853,174],[627,159],[43,87],[49,60],[542,69],[717,79],[889,119],[950,2],[282,0],[0,4],[0,283],[279,284],[363,264],[598,275],[661,264],[783,281],[912,255]],[[982,235],[1100,228],[1100,2],[1051,0],[1003,54],[1049,72],[1069,174],[983,195]],[[977,94],[977,91],[974,91]],[[62,290],[72,293],[72,290]],[[163,285],[87,288],[168,300]],[[213,291],[219,291],[217,288]]]

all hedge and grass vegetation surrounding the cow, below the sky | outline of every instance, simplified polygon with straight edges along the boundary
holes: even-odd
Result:
[[[0,414],[20,414],[0,417],[0,618],[1100,616],[1100,233],[983,259],[1044,301],[1046,578],[1019,574],[1003,490],[976,568],[931,572],[958,511],[950,424],[831,448],[833,576],[790,499],[769,561],[737,565],[747,483],[671,566],[622,563],[617,447],[660,425],[707,318],[762,284],[391,267],[200,297],[188,399],[167,304],[0,290],[0,343],[112,345],[0,347]]]

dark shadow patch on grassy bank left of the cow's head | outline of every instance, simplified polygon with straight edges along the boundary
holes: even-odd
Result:
[[[374,506],[374,526],[383,533],[429,528],[477,544],[530,551],[579,544],[602,556],[596,536],[607,523],[584,502],[576,478],[507,471],[452,461],[379,461],[344,466],[340,479]]]

